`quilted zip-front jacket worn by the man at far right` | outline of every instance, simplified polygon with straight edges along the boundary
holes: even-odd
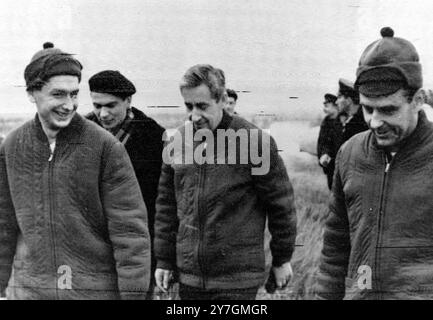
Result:
[[[433,124],[424,112],[390,158],[371,131],[340,149],[318,297],[433,298]]]

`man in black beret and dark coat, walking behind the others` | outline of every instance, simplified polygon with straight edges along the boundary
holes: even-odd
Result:
[[[126,148],[147,207],[153,248],[155,200],[162,164],[162,128],[155,120],[131,106],[134,84],[119,71],[101,71],[89,79],[93,112],[86,117],[111,132]],[[153,251],[153,250],[152,250]],[[150,299],[154,287],[152,259]]]

